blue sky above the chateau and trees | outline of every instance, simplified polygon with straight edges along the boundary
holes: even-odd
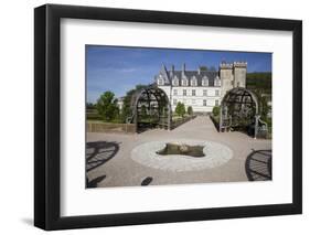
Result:
[[[137,84],[150,84],[162,64],[181,70],[185,63],[193,71],[200,65],[218,68],[222,61],[246,61],[248,72],[271,72],[271,53],[87,45],[87,102],[106,90],[120,97]]]

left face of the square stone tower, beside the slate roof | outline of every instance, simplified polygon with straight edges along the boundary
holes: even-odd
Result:
[[[220,64],[220,77],[222,83],[222,97],[225,96],[226,92],[233,88],[234,74],[233,64],[222,62]]]

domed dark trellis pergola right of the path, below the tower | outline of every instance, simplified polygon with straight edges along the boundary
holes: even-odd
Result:
[[[221,104],[220,131],[243,130],[248,135],[267,135],[267,124],[260,119],[257,96],[243,87],[226,93]]]

